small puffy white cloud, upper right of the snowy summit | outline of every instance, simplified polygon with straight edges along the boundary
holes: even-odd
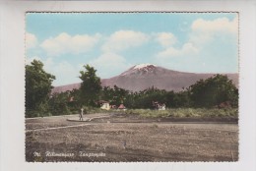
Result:
[[[157,41],[163,47],[169,47],[177,42],[177,38],[171,32],[159,32],[156,36]]]

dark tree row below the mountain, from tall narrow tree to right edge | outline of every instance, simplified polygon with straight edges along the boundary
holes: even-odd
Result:
[[[228,102],[231,107],[238,106],[238,89],[224,75],[215,75],[207,80],[200,80],[194,85],[174,92],[149,87],[139,92],[132,92],[116,85],[104,87],[102,98],[110,104],[124,103],[127,108],[153,108],[153,101],[164,103],[166,107],[215,107]]]

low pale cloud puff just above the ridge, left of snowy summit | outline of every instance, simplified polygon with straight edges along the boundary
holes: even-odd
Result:
[[[110,52],[101,54],[95,60],[90,61],[89,64],[97,69],[97,75],[100,78],[116,76],[131,66],[124,57]]]

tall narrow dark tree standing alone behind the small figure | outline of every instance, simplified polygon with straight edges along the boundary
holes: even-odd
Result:
[[[86,65],[84,68],[86,71],[80,71],[79,77],[82,80],[80,101],[82,104],[94,106],[101,90],[100,79],[96,76],[94,67]]]

